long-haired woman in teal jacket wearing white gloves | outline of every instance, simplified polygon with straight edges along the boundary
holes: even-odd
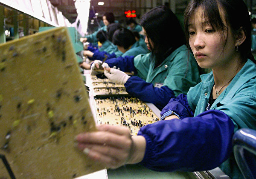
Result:
[[[124,84],[133,97],[162,109],[171,98],[186,94],[191,86],[200,82],[198,65],[184,45],[183,30],[170,9],[152,9],[142,16],[141,24],[151,53],[109,59],[102,67],[111,67],[110,72],[105,71],[105,76]],[[94,61],[92,64],[92,74],[96,74],[94,70],[99,63]],[[113,69],[113,66],[121,71]],[[133,71],[136,75],[130,77],[122,71]]]

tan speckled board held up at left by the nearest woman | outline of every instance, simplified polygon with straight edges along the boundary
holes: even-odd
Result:
[[[0,45],[0,154],[17,179],[71,179],[99,169],[75,147],[95,130],[66,28]],[[0,178],[9,178],[0,160]]]

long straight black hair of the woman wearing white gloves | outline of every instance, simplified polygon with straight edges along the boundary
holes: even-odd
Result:
[[[154,43],[154,47],[150,48],[154,57],[151,60],[155,59],[155,67],[175,49],[185,44],[183,29],[175,14],[166,6],[148,11],[141,17],[140,25],[145,29],[148,39]]]

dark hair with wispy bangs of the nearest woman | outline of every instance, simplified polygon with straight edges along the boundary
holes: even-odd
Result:
[[[189,19],[195,14],[195,11],[198,7],[202,8],[202,17],[209,22],[209,24],[216,31],[222,31],[223,37],[224,32],[228,31],[228,26],[230,26],[233,34],[237,34],[240,27],[243,28],[246,39],[242,43],[238,50],[241,54],[241,57],[244,63],[247,58],[253,60],[255,63],[254,57],[251,53],[251,22],[250,15],[243,0],[191,0],[185,11],[185,34],[187,46],[189,47]],[[225,16],[224,19],[227,22],[228,26],[225,25],[221,19],[221,12],[219,9],[222,9]],[[239,12],[239,13],[238,13]],[[234,37],[234,36],[233,36]],[[227,42],[227,39],[226,39]]]

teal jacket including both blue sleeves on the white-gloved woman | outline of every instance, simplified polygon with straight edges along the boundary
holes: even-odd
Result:
[[[126,91],[144,102],[153,103],[160,110],[171,98],[180,93],[186,94],[191,86],[200,82],[195,58],[185,45],[173,51],[157,68],[154,68],[154,60],[150,58],[151,53],[118,57],[105,62],[110,67],[119,67],[121,71],[133,71],[136,76],[127,80]]]

